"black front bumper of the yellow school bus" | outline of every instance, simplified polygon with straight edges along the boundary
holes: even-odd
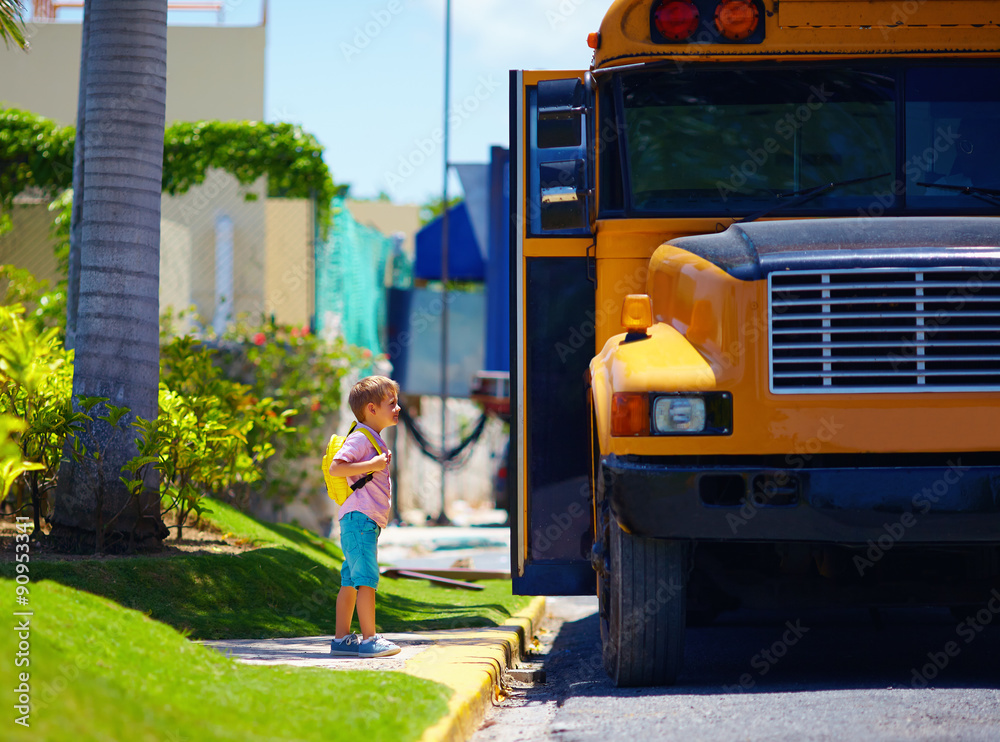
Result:
[[[1000,465],[783,470],[610,456],[605,492],[638,536],[721,541],[1000,544]]]

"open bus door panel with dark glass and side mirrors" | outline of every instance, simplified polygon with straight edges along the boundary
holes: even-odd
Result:
[[[511,73],[511,574],[519,595],[590,595],[585,374],[594,355],[589,75]]]

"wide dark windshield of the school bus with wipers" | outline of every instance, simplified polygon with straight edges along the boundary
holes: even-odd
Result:
[[[997,211],[995,68],[687,65],[624,71],[615,95],[632,214]]]

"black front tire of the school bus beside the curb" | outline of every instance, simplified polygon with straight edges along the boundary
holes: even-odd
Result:
[[[684,659],[685,544],[630,535],[613,519],[608,530],[604,668],[620,688],[673,685]]]

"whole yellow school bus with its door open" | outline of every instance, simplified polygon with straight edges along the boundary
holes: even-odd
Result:
[[[515,592],[596,592],[619,685],[739,607],[985,604],[1000,3],[617,0],[589,44],[511,73]]]

